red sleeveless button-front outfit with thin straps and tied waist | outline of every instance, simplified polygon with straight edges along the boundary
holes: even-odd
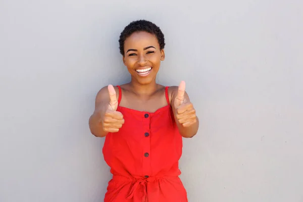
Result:
[[[165,88],[167,106],[154,113],[120,107],[125,123],[117,133],[108,133],[103,154],[111,167],[105,202],[187,202],[178,177],[182,136],[174,120]]]

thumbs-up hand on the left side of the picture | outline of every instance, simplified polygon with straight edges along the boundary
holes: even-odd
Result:
[[[112,85],[108,86],[110,102],[107,109],[102,116],[101,124],[105,132],[118,132],[124,124],[123,115],[121,112],[117,112],[118,100],[115,88]]]

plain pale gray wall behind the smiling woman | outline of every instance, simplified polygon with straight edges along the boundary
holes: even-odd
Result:
[[[302,1],[0,1],[0,201],[103,201],[97,91],[129,81],[122,29],[166,37],[158,81],[187,84],[190,202],[303,201]],[[165,152],[165,151],[164,151]]]

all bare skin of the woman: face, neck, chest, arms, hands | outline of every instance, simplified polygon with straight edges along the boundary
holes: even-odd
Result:
[[[131,82],[121,85],[121,107],[137,111],[155,112],[167,105],[165,86],[156,83],[160,63],[165,59],[164,49],[160,49],[155,35],[135,32],[124,42],[123,63],[131,74]],[[138,71],[151,70],[146,74]],[[183,137],[193,137],[198,130],[199,121],[185,91],[185,82],[171,86],[169,101],[179,132]],[[124,119],[117,112],[119,89],[105,86],[97,93],[95,111],[89,118],[89,128],[93,135],[104,137],[108,132],[118,132]]]

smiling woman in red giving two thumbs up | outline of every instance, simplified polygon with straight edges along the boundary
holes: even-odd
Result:
[[[182,137],[197,133],[198,118],[185,82],[156,83],[165,42],[155,24],[130,23],[119,43],[131,82],[102,88],[89,119],[91,133],[106,137],[103,154],[113,178],[105,201],[187,201],[178,161]]]

